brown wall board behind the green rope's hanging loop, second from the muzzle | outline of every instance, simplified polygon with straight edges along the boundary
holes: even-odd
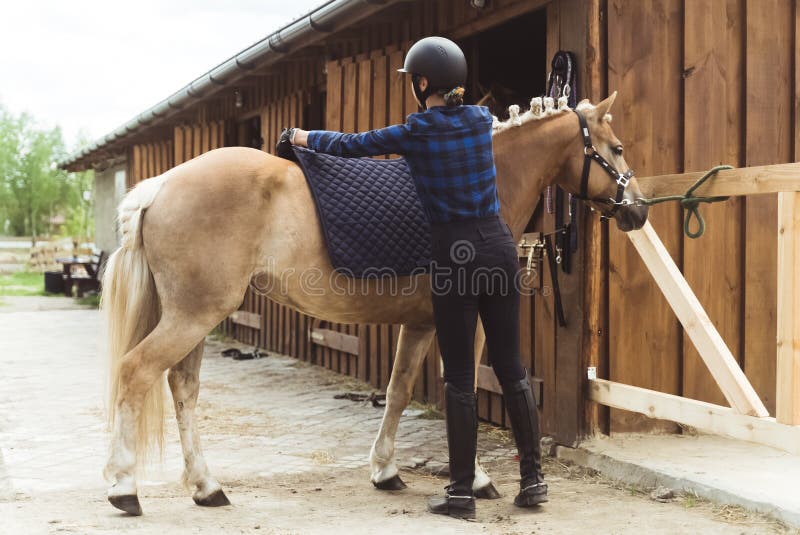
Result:
[[[687,2],[684,13],[684,163],[686,171],[739,165],[743,137],[742,4]],[[705,208],[705,207],[704,207]],[[741,363],[743,254],[741,200],[703,210],[702,239],[683,238],[683,273],[714,326]],[[710,258],[719,259],[709,272]],[[726,404],[694,345],[684,334],[683,395]]]

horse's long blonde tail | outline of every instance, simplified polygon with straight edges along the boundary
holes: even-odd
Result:
[[[108,337],[108,421],[112,430],[125,380],[121,377],[123,357],[155,328],[161,317],[153,274],[145,256],[141,223],[145,209],[152,204],[163,182],[163,175],[145,180],[125,196],[119,207],[122,247],[109,257],[103,273],[100,308]],[[162,376],[145,395],[136,434],[139,462],[153,449],[163,451],[164,390]]]

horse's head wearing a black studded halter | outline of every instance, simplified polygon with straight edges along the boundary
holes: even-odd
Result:
[[[614,92],[597,106],[588,101],[578,104],[580,128],[556,182],[627,232],[644,225],[648,209],[636,204],[642,193],[611,129],[608,112],[616,97]]]

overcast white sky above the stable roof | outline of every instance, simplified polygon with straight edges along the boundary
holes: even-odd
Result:
[[[100,137],[323,0],[10,0],[0,103]]]

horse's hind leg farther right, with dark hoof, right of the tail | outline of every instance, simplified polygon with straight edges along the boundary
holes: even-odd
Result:
[[[228,498],[216,479],[211,477],[203,452],[200,449],[200,435],[195,422],[197,395],[200,392],[200,362],[203,358],[203,343],[199,343],[186,358],[170,368],[167,379],[172,400],[175,404],[175,417],[183,448],[183,482],[195,489],[194,501],[197,505],[218,507],[230,505]]]

